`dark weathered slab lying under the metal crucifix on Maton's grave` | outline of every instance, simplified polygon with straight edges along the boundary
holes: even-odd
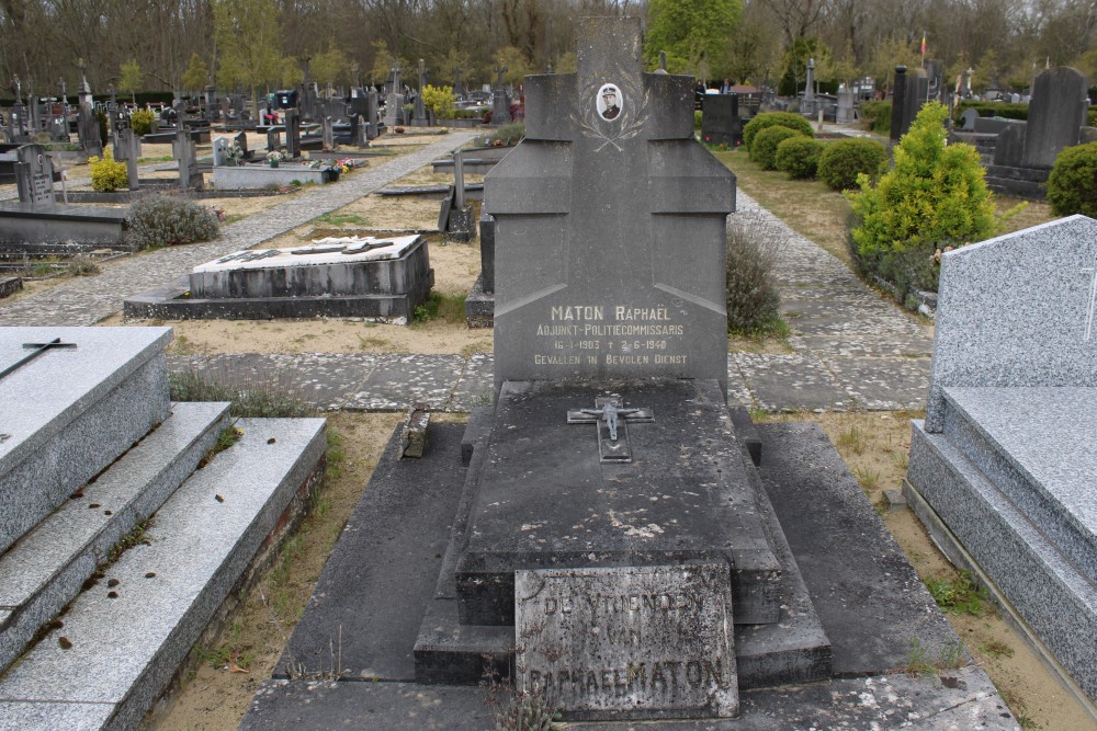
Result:
[[[595,425],[566,424],[569,410],[607,395],[655,413],[627,426],[631,464],[600,464]],[[692,559],[733,567],[737,623],[777,619],[780,563],[754,519],[758,500],[714,381],[508,384],[495,419],[483,473],[471,478],[462,621],[512,624],[518,569]]]

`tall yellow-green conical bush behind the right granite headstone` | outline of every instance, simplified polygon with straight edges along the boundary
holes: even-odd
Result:
[[[887,262],[919,245],[981,241],[994,232],[994,203],[979,152],[971,145],[946,146],[948,110],[921,107],[911,132],[895,147],[895,167],[872,186],[858,176],[848,192],[856,225],[850,231],[860,265],[885,273]]]

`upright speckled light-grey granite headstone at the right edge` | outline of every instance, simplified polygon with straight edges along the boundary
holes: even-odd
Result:
[[[1097,386],[1097,220],[1071,216],[945,254],[926,430],[949,386]]]

